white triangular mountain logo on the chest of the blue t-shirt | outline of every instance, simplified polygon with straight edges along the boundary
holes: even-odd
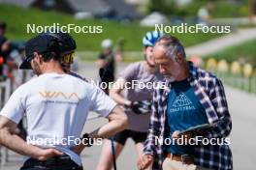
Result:
[[[174,101],[170,112],[195,110],[193,102],[184,93],[180,93]]]

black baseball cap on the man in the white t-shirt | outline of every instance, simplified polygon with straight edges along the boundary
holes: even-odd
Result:
[[[45,53],[56,51],[56,45],[52,45],[56,39],[49,35],[38,35],[30,39],[25,45],[25,60],[19,66],[21,70],[31,70],[31,60],[34,58],[34,52]],[[57,43],[54,43],[57,44]],[[55,48],[54,48],[55,47]]]

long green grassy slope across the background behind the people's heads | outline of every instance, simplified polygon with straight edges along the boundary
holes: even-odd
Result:
[[[7,37],[10,40],[28,40],[34,34],[26,33],[27,24],[60,25],[76,24],[80,26],[103,26],[102,34],[76,34],[71,33],[78,43],[78,50],[98,51],[103,39],[110,38],[114,43],[120,38],[125,40],[124,50],[142,50],[142,38],[145,32],[153,30],[149,27],[141,27],[139,23],[122,24],[114,21],[102,21],[96,19],[75,19],[72,15],[60,14],[56,12],[43,12],[36,9],[21,9],[16,6],[0,5],[0,20],[8,24]],[[221,36],[220,34],[175,34],[185,46],[206,42],[210,39]]]

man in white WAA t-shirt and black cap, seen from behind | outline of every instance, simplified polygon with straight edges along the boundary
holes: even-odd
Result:
[[[20,69],[32,68],[39,76],[16,89],[0,112],[0,144],[24,155],[21,170],[81,170],[78,145],[88,111],[110,122],[83,135],[106,138],[127,127],[127,117],[99,88],[66,74],[60,64],[61,42],[50,35],[26,43]],[[16,124],[26,114],[27,142],[16,135]],[[87,143],[89,144],[89,143]]]

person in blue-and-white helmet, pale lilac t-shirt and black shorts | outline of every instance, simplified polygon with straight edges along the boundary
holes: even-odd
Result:
[[[153,87],[141,89],[139,86],[133,87],[132,83],[137,81],[152,85],[163,80],[164,77],[160,74],[152,58],[153,45],[161,35],[155,31],[145,34],[143,39],[144,61],[130,64],[122,71],[110,91],[111,98],[124,107],[129,124],[127,129],[115,134],[112,138],[116,157],[120,155],[128,138],[135,142],[138,156],[143,155],[143,143],[149,124]],[[129,84],[129,87],[126,84]],[[122,92],[126,95],[123,96]],[[112,162],[111,140],[106,139],[97,170],[111,170]]]

